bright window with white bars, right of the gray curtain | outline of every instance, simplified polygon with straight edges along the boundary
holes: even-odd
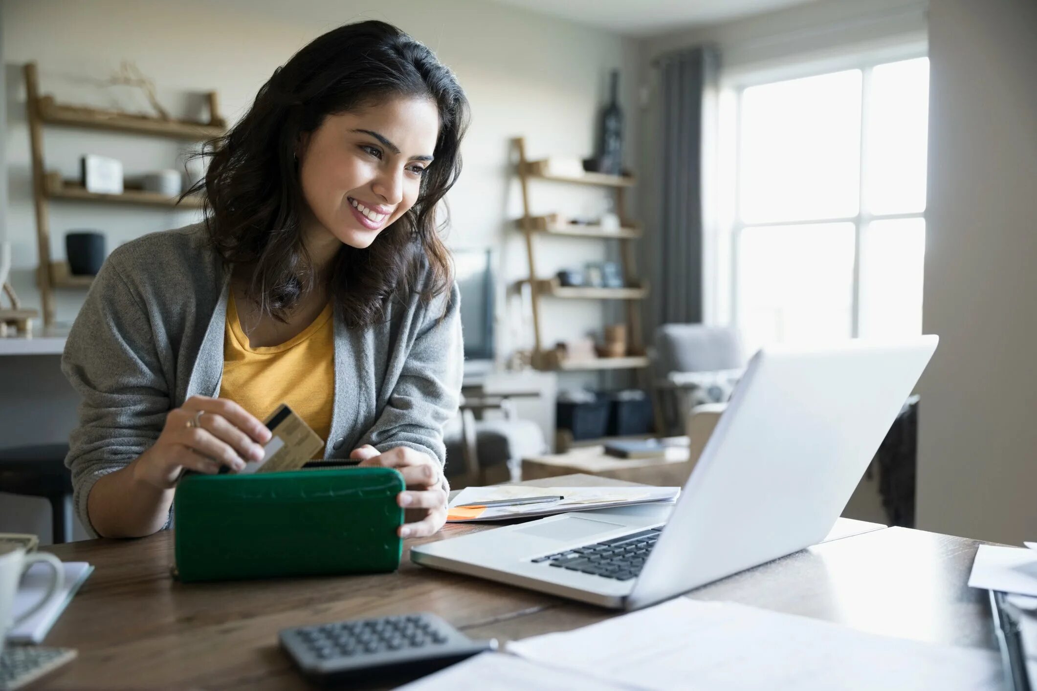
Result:
[[[921,333],[928,81],[922,57],[732,92],[729,264],[707,276],[748,351]]]

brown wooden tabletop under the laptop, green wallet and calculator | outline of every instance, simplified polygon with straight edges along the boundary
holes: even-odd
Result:
[[[536,485],[626,484],[587,476]],[[993,647],[986,593],[965,586],[975,540],[840,519],[858,532],[698,588],[727,600],[923,641]],[[502,640],[584,626],[616,613],[414,566],[409,549],[492,525],[448,525],[408,540],[397,573],[183,584],[170,579],[170,532],[46,548],[96,571],[47,637],[79,658],[38,688],[306,689],[277,646],[279,629],[357,616],[433,611],[473,638]],[[870,530],[860,532],[860,530]],[[36,688],[36,687],[34,687]]]

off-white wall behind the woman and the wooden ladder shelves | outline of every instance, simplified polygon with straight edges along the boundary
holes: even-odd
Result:
[[[372,10],[371,7],[377,7]],[[5,0],[3,61],[7,76],[9,124],[7,169],[10,204],[5,215],[13,242],[17,289],[38,305],[32,270],[36,265],[31,203],[28,132],[22,63],[39,64],[41,88],[63,102],[145,110],[146,102],[123,87],[102,88],[122,59],[137,62],[159,86],[160,99],[180,116],[201,114],[197,92],[215,89],[224,114],[236,120],[274,68],[313,37],[364,17],[400,26],[424,41],[457,74],[472,104],[472,127],[464,148],[465,173],[449,196],[453,247],[499,244],[506,279],[526,272],[525,244],[511,220],[521,197],[510,165],[509,139],[525,135],[529,155],[589,155],[594,121],[612,68],[621,70],[623,102],[633,103],[636,44],[600,30],[478,0]],[[627,107],[636,132],[637,112]],[[629,137],[635,140],[635,137]],[[80,154],[96,152],[123,161],[128,174],[170,167],[176,145],[124,135],[47,127],[49,168],[75,176]],[[632,141],[627,160],[637,161]],[[601,192],[537,184],[538,212],[591,212]],[[64,256],[64,233],[100,229],[109,250],[143,233],[190,223],[196,212],[52,202],[52,254]],[[538,269],[550,276],[567,264],[605,258],[595,242],[552,238],[540,246]],[[58,319],[71,322],[81,291],[60,291]],[[554,304],[545,324],[552,339],[599,327],[604,306]],[[517,322],[517,316],[511,322]],[[531,328],[502,323],[502,350],[511,340],[527,345]]]

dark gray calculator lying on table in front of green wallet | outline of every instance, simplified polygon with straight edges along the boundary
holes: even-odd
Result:
[[[418,676],[497,649],[422,612],[284,629],[281,647],[318,682]]]

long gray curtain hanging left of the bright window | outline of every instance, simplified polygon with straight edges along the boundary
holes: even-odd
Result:
[[[716,91],[718,63],[710,46],[658,61],[655,324],[702,321],[702,106]]]

